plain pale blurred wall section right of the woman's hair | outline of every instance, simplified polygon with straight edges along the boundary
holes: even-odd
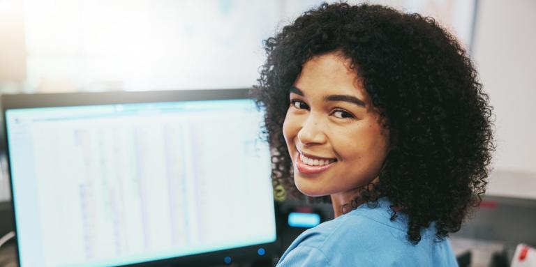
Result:
[[[472,57],[495,108],[489,194],[536,199],[536,1],[479,0]]]

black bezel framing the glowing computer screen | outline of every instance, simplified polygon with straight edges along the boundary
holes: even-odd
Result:
[[[3,152],[8,160],[8,171],[11,174],[9,164],[8,135],[6,128],[6,111],[9,109],[26,109],[39,107],[70,107],[82,105],[114,105],[131,103],[151,103],[151,102],[179,102],[196,100],[231,100],[231,99],[251,99],[252,89],[211,89],[211,90],[174,90],[174,91],[107,91],[107,92],[80,92],[80,93],[22,93],[1,95],[1,109],[3,119]],[[13,196],[13,183],[10,176],[10,192]],[[13,225],[17,233],[17,222],[15,218],[15,203],[12,199]],[[200,254],[191,254],[182,257],[172,257],[158,259],[155,261],[145,261],[141,263],[121,265],[122,267],[147,267],[147,266],[208,266],[211,264],[225,265],[225,257],[231,257],[232,262],[246,260],[270,261],[281,253],[280,247],[280,225],[278,219],[278,206],[274,201],[276,240],[271,243],[262,243],[246,247],[236,247],[228,250],[218,250]],[[15,238],[17,264],[20,264],[20,254],[18,251],[18,238]],[[258,248],[265,249],[264,255],[258,255]],[[22,266],[23,267],[23,266]]]

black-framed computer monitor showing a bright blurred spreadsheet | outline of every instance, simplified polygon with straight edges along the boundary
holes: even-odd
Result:
[[[269,148],[247,93],[2,96],[20,266],[273,254]]]

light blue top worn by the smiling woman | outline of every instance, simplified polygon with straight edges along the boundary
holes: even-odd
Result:
[[[435,238],[435,226],[422,231],[417,245],[408,241],[407,217],[378,199],[334,220],[304,231],[283,254],[277,267],[287,266],[458,266],[448,239]]]

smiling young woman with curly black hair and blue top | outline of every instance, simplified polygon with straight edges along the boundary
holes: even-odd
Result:
[[[278,266],[456,266],[447,236],[484,193],[491,107],[433,19],[322,4],[265,42],[256,90],[274,185],[331,201]]]

